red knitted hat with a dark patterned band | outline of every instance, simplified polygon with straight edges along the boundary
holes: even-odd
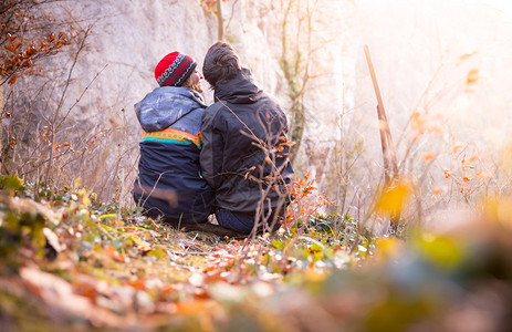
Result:
[[[155,79],[160,86],[181,86],[196,66],[197,62],[192,58],[173,52],[158,62],[155,68]]]

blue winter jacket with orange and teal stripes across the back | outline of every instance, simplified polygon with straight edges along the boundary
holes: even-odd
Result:
[[[202,97],[185,86],[163,86],[135,104],[143,127],[134,199],[151,217],[203,222],[213,191],[201,177]]]

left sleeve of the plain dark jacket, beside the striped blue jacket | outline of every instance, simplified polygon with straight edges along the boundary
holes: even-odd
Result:
[[[199,162],[202,177],[213,189],[220,186],[223,160],[223,135],[218,123],[220,108],[218,104],[213,104],[205,110],[202,115],[202,147]]]

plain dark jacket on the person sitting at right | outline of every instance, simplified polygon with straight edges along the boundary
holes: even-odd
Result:
[[[247,69],[218,83],[215,98],[202,116],[200,160],[216,206],[250,214],[276,208],[288,200],[283,185],[293,177],[284,113]]]

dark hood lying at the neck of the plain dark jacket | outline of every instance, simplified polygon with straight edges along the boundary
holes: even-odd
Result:
[[[233,104],[252,104],[261,98],[262,91],[254,84],[251,72],[242,69],[234,79],[217,83],[215,101],[227,101]]]

